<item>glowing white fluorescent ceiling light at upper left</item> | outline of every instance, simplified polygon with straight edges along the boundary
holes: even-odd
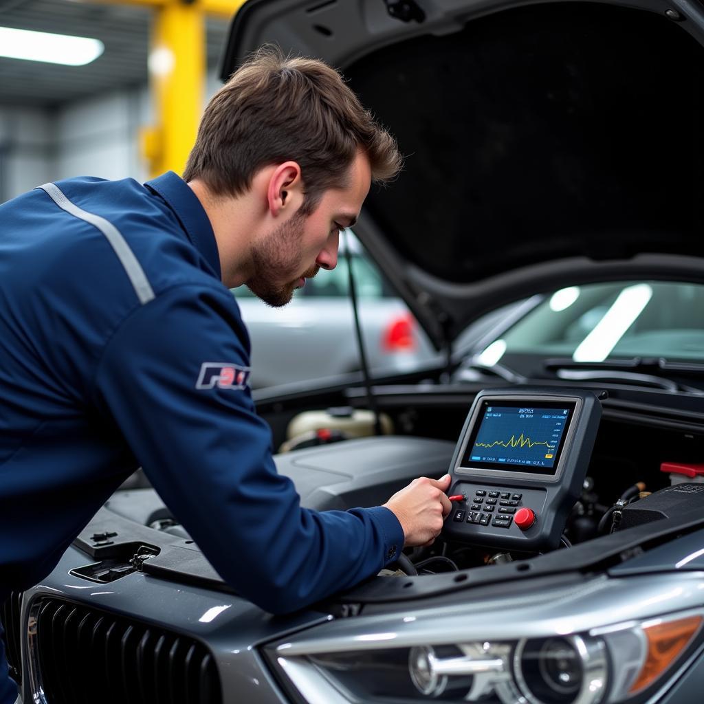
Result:
[[[7,58],[83,66],[95,61],[104,49],[99,39],[0,27],[0,56]]]

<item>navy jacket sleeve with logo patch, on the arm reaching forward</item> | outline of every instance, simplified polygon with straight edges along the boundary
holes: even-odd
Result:
[[[301,508],[243,384],[248,348],[226,289],[170,289],[115,331],[94,394],[220,576],[284,613],[375,574],[400,553],[403,529],[383,507]]]

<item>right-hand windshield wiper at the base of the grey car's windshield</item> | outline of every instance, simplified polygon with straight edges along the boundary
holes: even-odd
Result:
[[[575,381],[612,380],[654,386],[667,391],[687,391],[702,394],[702,389],[686,386],[670,379],[668,374],[684,374],[704,377],[704,364],[689,362],[669,362],[664,357],[632,357],[630,359],[610,359],[603,362],[575,362],[572,358],[546,359],[543,367],[555,372],[560,379]]]

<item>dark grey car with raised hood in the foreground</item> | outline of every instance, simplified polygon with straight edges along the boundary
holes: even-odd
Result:
[[[266,41],[338,65],[398,136],[355,233],[442,358],[259,389],[275,446],[370,394],[394,423],[277,467],[320,510],[449,470],[455,508],[432,546],[272,616],[151,489],[118,491],[4,606],[23,702],[700,702],[704,14],[250,0],[222,75]]]

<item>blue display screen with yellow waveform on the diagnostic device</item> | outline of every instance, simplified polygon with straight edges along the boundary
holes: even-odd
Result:
[[[568,409],[489,406],[470,460],[552,467]]]

